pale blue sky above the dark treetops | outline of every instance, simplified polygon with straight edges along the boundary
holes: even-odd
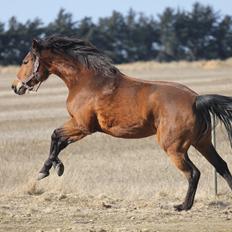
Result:
[[[20,22],[40,18],[45,24],[53,21],[61,8],[73,14],[75,21],[85,16],[97,21],[111,15],[113,10],[126,14],[130,8],[136,12],[156,16],[166,7],[191,10],[195,0],[0,0],[0,22],[6,23],[11,16]],[[213,6],[222,15],[232,15],[232,0],[199,0]]]

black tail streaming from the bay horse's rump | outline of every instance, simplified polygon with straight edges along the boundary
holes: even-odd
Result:
[[[211,114],[225,125],[232,147],[232,97],[216,94],[197,96],[196,110],[198,119],[201,121],[201,125],[199,125],[201,133],[211,129]],[[205,128],[202,128],[202,122],[205,124]]]

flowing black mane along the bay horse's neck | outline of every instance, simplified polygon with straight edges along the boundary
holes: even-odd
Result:
[[[69,55],[88,69],[104,76],[112,76],[119,72],[112,64],[112,60],[88,41],[75,37],[50,36],[42,40],[41,43],[44,48],[50,48],[59,54]]]

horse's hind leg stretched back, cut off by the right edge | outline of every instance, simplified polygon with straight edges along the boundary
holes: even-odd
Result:
[[[194,146],[214,166],[216,171],[226,180],[232,190],[232,176],[227,163],[217,153],[211,142],[205,142]]]

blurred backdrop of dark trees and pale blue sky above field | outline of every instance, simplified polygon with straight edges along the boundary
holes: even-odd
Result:
[[[231,12],[229,0],[8,0],[0,8],[0,65],[19,64],[32,38],[51,34],[87,39],[117,64],[226,59]]]

